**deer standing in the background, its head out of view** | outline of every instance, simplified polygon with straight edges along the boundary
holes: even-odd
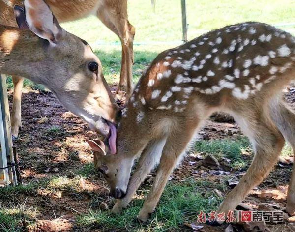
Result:
[[[95,14],[102,23],[118,35],[122,44],[122,63],[117,92],[132,93],[133,38],[135,28],[127,16],[127,0],[45,0],[60,22],[67,22]],[[23,0],[0,0],[0,24],[16,27],[13,6]],[[29,78],[29,77],[28,77]],[[13,76],[14,93],[11,128],[14,137],[21,127],[21,97],[24,78]]]

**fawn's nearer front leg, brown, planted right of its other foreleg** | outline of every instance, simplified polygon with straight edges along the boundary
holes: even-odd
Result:
[[[187,124],[187,126],[182,125],[182,129],[173,131],[168,136],[153,186],[138,215],[138,219],[140,221],[146,222],[149,215],[154,211],[163,193],[168,178],[174,167],[177,165],[179,157],[184,152],[186,146],[193,137],[196,127],[197,124],[195,124],[195,122],[191,122]]]

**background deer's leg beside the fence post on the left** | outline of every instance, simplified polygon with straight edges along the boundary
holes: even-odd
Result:
[[[19,76],[13,76],[12,82],[14,85],[13,91],[13,103],[11,111],[11,133],[12,138],[16,139],[18,137],[19,128],[22,126],[22,88],[24,78]]]

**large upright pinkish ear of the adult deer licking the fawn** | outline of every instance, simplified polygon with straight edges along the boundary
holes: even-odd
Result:
[[[55,16],[43,0],[25,0],[25,16],[29,29],[42,39],[55,44],[62,34]]]

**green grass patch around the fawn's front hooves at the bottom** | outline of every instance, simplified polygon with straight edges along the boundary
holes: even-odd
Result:
[[[200,210],[209,212],[218,207],[221,199],[212,191],[208,191],[210,188],[212,188],[211,184],[206,181],[188,180],[178,184],[169,183],[147,224],[139,224],[136,219],[148,193],[146,189],[143,189],[138,199],[133,200],[122,214],[113,215],[109,211],[90,210],[88,214],[77,217],[77,225],[93,229],[100,228],[103,231],[112,229],[153,232],[177,230],[185,221],[195,220]]]

